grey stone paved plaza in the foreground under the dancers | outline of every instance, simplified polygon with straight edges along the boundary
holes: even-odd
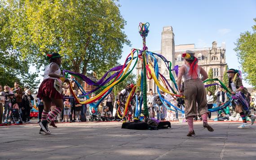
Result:
[[[255,160],[256,125],[209,122],[214,132],[195,122],[171,122],[163,130],[121,129],[122,122],[57,124],[51,135],[38,134],[37,124],[0,127],[0,160]]]

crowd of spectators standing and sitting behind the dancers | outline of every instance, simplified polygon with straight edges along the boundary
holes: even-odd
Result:
[[[79,97],[80,101],[87,100],[86,97],[82,96],[81,91],[75,91],[74,93]],[[118,93],[120,94],[120,92]],[[71,92],[69,89],[63,89],[63,104],[64,109],[62,112],[58,115],[58,117],[53,121],[60,121],[60,122],[80,122],[80,121],[87,121],[88,117],[89,119],[95,118],[98,121],[113,121],[117,120],[117,112],[118,104],[116,103],[118,100],[118,94],[115,96],[113,92],[111,92],[104,101],[99,105],[99,107],[90,108],[89,104],[78,104],[75,99],[72,97]],[[141,92],[137,91],[137,96],[141,96]],[[171,95],[160,91],[160,96],[162,99],[165,99],[166,101],[170,102],[174,106],[179,106],[182,110],[185,110],[184,105],[177,105],[177,100],[174,99]],[[95,94],[92,94],[91,97],[94,97]],[[216,88],[215,93],[212,94],[212,92],[208,91],[207,95],[207,106],[208,109],[211,109],[214,107],[213,104],[216,104],[215,107],[219,107],[223,104],[225,104],[229,98],[225,91],[222,90],[221,87]],[[140,98],[138,98],[140,99]],[[247,99],[250,101],[248,103],[252,102],[252,97],[250,93],[247,95]],[[10,109],[11,108],[18,108],[19,113],[21,115],[23,123],[30,123],[30,112],[31,108],[33,107],[33,104],[31,103],[34,100],[34,96],[31,94],[31,90],[29,87],[24,87],[22,90],[19,87],[19,83],[15,82],[13,88],[5,85],[0,85],[0,124],[4,121],[8,121],[11,117],[10,115]],[[44,104],[42,99],[36,99],[37,101],[37,108],[38,108],[38,122],[41,121],[42,112],[44,109]],[[133,97],[133,100],[131,102],[132,104],[132,110],[133,114],[132,117],[134,117],[135,113],[135,97]],[[97,101],[96,101],[97,103]],[[163,101],[161,101],[158,94],[154,94],[153,91],[150,89],[150,94],[147,96],[147,104],[148,104],[148,110],[149,110],[149,117],[155,117],[158,120],[167,120],[167,121],[178,121],[183,120],[185,115],[181,114],[179,117],[179,114],[175,108],[170,106],[169,104],[163,104]],[[171,108],[172,110],[169,110],[166,108]],[[55,105],[52,104],[52,109],[54,109]],[[143,113],[144,107],[142,104],[142,113]],[[217,112],[217,117],[213,118],[214,121],[239,121],[241,117],[239,117],[239,114],[236,114],[235,112],[233,115],[233,108],[232,106],[228,106],[227,108],[224,108]],[[201,120],[201,117],[199,117]],[[208,119],[212,119],[212,114],[210,112]],[[198,118],[194,118],[194,120],[198,120]]]

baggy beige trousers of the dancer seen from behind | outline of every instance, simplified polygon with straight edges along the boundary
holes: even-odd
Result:
[[[201,116],[208,112],[206,90],[201,79],[189,79],[184,82],[185,117]]]

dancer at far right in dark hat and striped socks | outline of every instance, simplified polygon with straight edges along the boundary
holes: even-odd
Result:
[[[229,88],[233,94],[232,105],[234,106],[235,112],[239,113],[243,120],[243,124],[238,126],[238,128],[249,128],[246,121],[246,115],[251,118],[252,125],[256,120],[256,116],[250,114],[250,106],[248,105],[248,99],[245,96],[248,91],[247,88],[243,86],[242,73],[236,69],[229,69],[227,73],[229,76]]]

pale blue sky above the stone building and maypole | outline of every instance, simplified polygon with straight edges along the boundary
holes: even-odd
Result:
[[[229,68],[239,68],[234,42],[241,32],[252,31],[256,0],[120,0],[120,13],[127,21],[124,32],[132,47],[124,46],[123,58],[131,48],[141,48],[139,22],[150,23],[146,39],[149,51],[161,49],[163,26],[172,26],[175,45],[194,43],[196,48],[226,43]],[[249,86],[245,84],[245,86]]]

